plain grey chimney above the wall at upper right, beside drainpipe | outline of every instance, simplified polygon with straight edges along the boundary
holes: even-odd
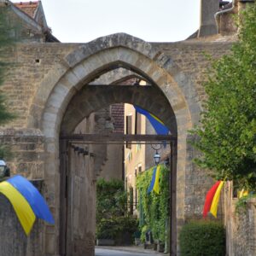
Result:
[[[201,24],[198,37],[218,34],[214,15],[218,12],[218,0],[201,0]]]

